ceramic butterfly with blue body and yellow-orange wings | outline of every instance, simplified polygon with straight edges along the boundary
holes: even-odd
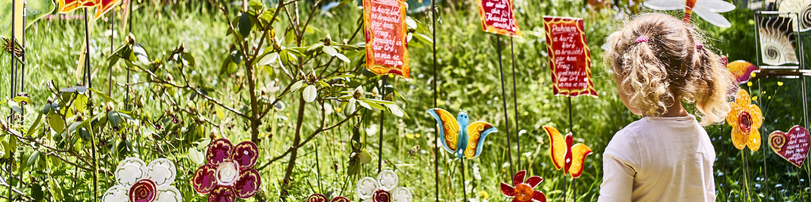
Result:
[[[456,119],[453,114],[440,108],[432,108],[428,110],[428,114],[434,116],[440,126],[442,147],[451,154],[456,154],[457,158],[478,157],[478,154],[482,154],[484,137],[498,132],[493,124],[481,120],[470,123],[470,117],[464,111],[459,112]]]

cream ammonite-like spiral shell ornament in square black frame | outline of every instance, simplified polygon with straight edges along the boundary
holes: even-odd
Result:
[[[758,20],[760,27],[761,58],[767,65],[800,64],[797,61],[796,35],[792,19],[764,17]]]

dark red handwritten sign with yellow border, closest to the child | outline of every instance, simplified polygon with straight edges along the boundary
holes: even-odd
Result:
[[[597,97],[583,19],[543,16],[555,95]]]

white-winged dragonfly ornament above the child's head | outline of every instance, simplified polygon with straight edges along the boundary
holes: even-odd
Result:
[[[718,27],[732,27],[732,23],[719,13],[735,10],[735,5],[722,0],[649,0],[643,5],[659,11],[684,9],[684,22],[690,22],[690,16],[695,12],[708,23]]]

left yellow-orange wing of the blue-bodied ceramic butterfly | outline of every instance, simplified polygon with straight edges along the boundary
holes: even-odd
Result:
[[[459,123],[456,117],[440,108],[432,108],[428,110],[428,114],[431,114],[436,119],[436,123],[440,127],[437,133],[439,133],[440,140],[442,140],[442,147],[451,154],[456,154],[457,149],[459,149]]]

